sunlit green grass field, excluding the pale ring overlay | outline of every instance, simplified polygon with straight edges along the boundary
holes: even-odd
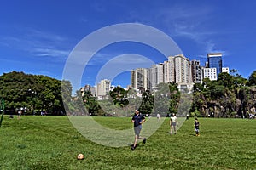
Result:
[[[131,127],[131,118],[95,117],[103,126]],[[0,169],[256,169],[256,120],[199,118],[170,135],[168,119],[137,150],[85,139],[67,116],[5,116]],[[143,133],[142,133],[143,135]],[[131,141],[132,143],[133,141]],[[83,153],[84,160],[76,156]]]

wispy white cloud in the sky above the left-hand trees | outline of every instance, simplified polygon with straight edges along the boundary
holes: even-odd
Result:
[[[29,52],[32,56],[67,57],[69,54],[70,50],[65,49],[66,37],[33,28],[20,30],[22,33],[16,37],[3,37],[2,44]]]

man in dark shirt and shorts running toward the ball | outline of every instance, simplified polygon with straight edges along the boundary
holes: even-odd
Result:
[[[146,138],[140,136],[142,130],[142,124],[145,122],[146,119],[138,110],[135,110],[134,116],[132,116],[131,122],[133,122],[134,133],[135,133],[135,140],[134,144],[131,146],[131,150],[135,150],[137,146],[137,139],[143,139],[143,144],[146,144]]]

